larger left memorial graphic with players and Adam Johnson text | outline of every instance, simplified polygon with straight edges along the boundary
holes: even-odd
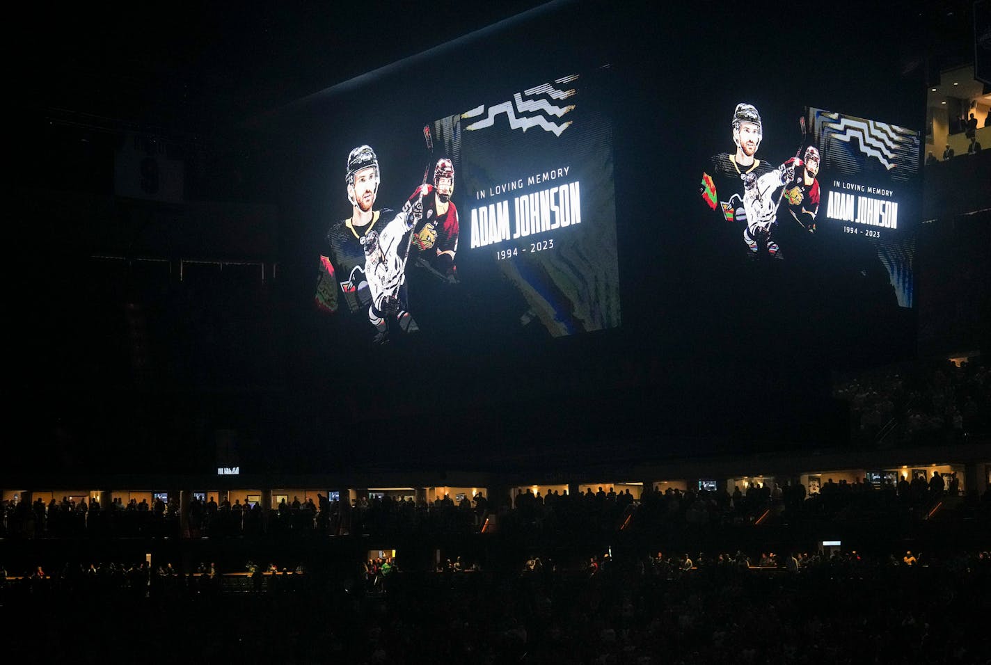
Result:
[[[318,309],[370,345],[619,326],[607,77],[519,74],[336,136]]]

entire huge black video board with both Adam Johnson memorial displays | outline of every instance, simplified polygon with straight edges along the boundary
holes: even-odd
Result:
[[[827,399],[826,365],[904,356],[916,80],[852,38],[730,56],[737,9],[550,3],[283,113],[300,376],[375,417],[427,383],[468,410],[615,385],[708,408],[707,377]]]

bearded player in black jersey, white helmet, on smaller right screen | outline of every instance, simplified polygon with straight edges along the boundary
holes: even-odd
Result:
[[[747,221],[746,207],[743,205],[745,178],[759,178],[773,167],[756,157],[764,128],[760,113],[752,104],[741,102],[736,105],[731,127],[736,151],[713,156],[711,164],[702,174],[700,192],[720,219],[738,229]]]

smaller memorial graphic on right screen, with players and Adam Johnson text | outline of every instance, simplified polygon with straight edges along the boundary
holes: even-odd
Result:
[[[769,128],[773,154],[762,149]],[[732,144],[699,185],[726,246],[755,264],[826,260],[830,270],[883,273],[897,304],[913,306],[918,132],[816,108],[769,118],[747,101],[728,130]],[[795,137],[794,153],[782,151],[784,136]]]

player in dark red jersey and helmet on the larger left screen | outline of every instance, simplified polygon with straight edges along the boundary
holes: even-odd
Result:
[[[451,200],[453,193],[454,165],[441,158],[434,166],[433,185],[417,187],[407,201],[412,204],[423,197],[423,216],[413,229],[410,245],[418,253],[417,265],[451,281],[457,274],[458,253],[458,208]]]

